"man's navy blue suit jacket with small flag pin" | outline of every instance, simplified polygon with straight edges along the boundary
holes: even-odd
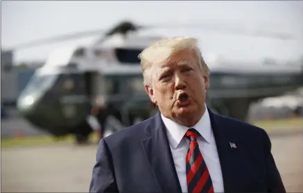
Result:
[[[266,131],[209,116],[225,192],[286,192]],[[89,192],[182,192],[159,113],[100,141]]]

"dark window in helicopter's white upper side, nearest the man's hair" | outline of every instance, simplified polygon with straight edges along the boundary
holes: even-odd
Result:
[[[118,59],[121,63],[139,64],[140,60],[138,55],[141,53],[141,51],[142,49],[139,48],[116,48],[116,59]]]

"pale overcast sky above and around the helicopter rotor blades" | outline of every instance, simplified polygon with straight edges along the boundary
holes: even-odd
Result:
[[[168,36],[199,37],[202,52],[209,56],[285,60],[303,55],[303,1],[1,1],[1,48],[66,33],[106,29],[124,19],[139,24],[241,24],[288,32],[297,39],[224,35],[201,29],[165,30]],[[77,39],[72,44],[88,40]],[[46,59],[58,46],[61,44],[17,50],[14,60]]]

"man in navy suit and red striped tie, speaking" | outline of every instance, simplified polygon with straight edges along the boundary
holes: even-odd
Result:
[[[196,39],[164,39],[139,57],[159,113],[100,141],[89,192],[286,192],[266,131],[207,108]]]

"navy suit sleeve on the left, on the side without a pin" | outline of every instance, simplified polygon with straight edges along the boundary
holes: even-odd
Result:
[[[100,140],[98,145],[89,192],[119,192],[116,187],[110,149],[104,139]]]

